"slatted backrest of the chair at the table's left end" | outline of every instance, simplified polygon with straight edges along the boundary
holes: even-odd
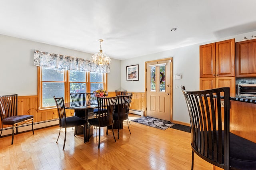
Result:
[[[66,110],[63,97],[53,97],[57,106],[58,116],[59,116],[59,126],[66,126]]]

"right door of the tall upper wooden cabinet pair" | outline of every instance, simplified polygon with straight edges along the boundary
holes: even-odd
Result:
[[[235,39],[216,42],[216,77],[235,76]]]

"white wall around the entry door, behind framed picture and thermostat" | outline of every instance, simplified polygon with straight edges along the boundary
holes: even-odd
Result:
[[[236,42],[240,42],[244,37],[250,39],[256,35],[255,32],[249,32],[232,37],[214,40],[218,42],[235,38]],[[181,80],[175,80],[173,76],[173,85],[185,86],[187,90],[199,90],[199,45],[212,43],[205,42],[187,47],[171,49],[150,55],[139,56],[121,61],[121,87],[127,91],[145,92],[145,62],[156,59],[173,57],[173,75],[181,74]],[[139,64],[139,81],[126,81],[126,66]],[[173,87],[173,120],[184,123],[190,123],[188,109],[185,103],[181,89]]]

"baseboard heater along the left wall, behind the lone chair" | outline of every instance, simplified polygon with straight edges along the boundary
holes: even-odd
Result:
[[[44,127],[50,127],[53,125],[58,125],[59,124],[59,119],[53,119],[49,121],[42,121],[42,122],[36,122],[34,123],[34,130],[38,128],[44,128]],[[0,131],[2,128],[0,128]],[[32,130],[31,124],[23,125],[21,127],[18,127],[18,133],[19,132],[25,132],[28,130]],[[16,133],[16,129],[14,129],[14,133]],[[8,128],[3,128],[3,132],[1,136],[9,135],[12,134],[12,127]]]

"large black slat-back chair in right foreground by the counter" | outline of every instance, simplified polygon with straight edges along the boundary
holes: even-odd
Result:
[[[194,153],[225,170],[256,169],[256,143],[230,132],[229,91],[229,87],[203,91],[182,87],[191,123],[192,170]]]

